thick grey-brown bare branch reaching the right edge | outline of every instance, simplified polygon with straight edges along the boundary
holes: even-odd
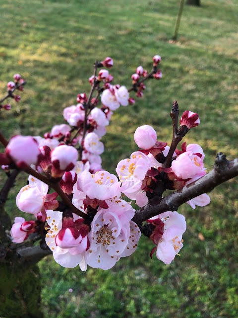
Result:
[[[176,211],[179,206],[200,194],[212,191],[219,184],[226,182],[238,176],[238,158],[227,160],[222,153],[217,154],[214,168],[181,190],[176,191],[163,198],[157,206],[151,205],[150,202],[143,210],[137,210],[133,222],[141,224],[142,222],[166,211]]]

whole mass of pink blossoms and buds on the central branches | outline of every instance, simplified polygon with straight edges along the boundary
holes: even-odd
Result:
[[[142,97],[145,79],[162,77],[157,69],[160,61],[158,55],[153,58],[150,73],[139,66],[129,90],[112,85],[113,76],[107,70],[101,69],[96,76],[97,68],[113,66],[111,58],[95,62],[89,96],[78,94],[78,104],[63,111],[70,126],[56,125],[44,138],[19,135],[10,139],[0,154],[0,163],[5,170],[17,168],[30,174],[16,205],[35,217],[34,221],[15,218],[10,232],[14,242],[23,242],[32,233],[44,233],[56,262],[64,267],[79,265],[83,271],[87,265],[112,268],[120,257],[135,251],[141,233],[156,244],[151,257],[156,251],[158,259],[170,264],[179,254],[186,230],[184,216],[166,211],[137,224],[133,221],[135,209],[122,197],[135,200],[143,208],[153,200],[158,187],[161,193],[180,190],[199,179],[206,174],[202,148],[186,143],[181,151],[169,147],[157,140],[153,127],[144,125],[134,134],[139,150],[119,161],[118,175],[104,170],[100,157],[104,151],[100,138],[113,111],[134,103],[129,91]],[[97,93],[92,98],[93,91]],[[100,94],[102,107],[98,108]],[[179,130],[187,132],[198,124],[198,114],[185,111]],[[195,209],[209,202],[209,196],[202,194],[187,203]]]

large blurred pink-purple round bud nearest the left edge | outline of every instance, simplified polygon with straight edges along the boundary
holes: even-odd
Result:
[[[10,139],[5,153],[15,161],[18,167],[25,167],[37,163],[40,150],[37,141],[32,136],[18,135]]]

